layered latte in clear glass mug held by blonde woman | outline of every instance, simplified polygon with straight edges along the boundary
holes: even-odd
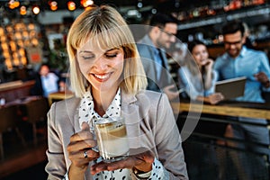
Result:
[[[114,162],[129,156],[129,141],[122,117],[98,119],[94,123],[94,130],[104,162]]]

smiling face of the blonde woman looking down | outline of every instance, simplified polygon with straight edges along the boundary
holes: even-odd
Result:
[[[124,64],[124,51],[121,47],[96,49],[91,43],[86,43],[77,49],[76,57],[92,90],[101,92],[118,88]]]

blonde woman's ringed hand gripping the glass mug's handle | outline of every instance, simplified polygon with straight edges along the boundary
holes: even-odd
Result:
[[[85,175],[89,162],[99,157],[99,153],[92,150],[95,146],[96,140],[93,139],[89,125],[83,122],[82,130],[73,134],[67,145],[68,158],[71,160],[68,171],[69,179],[73,179],[73,176],[80,179],[77,175]],[[85,157],[85,154],[87,157]]]

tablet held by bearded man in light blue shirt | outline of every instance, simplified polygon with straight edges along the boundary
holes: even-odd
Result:
[[[217,81],[215,84],[215,92],[224,95],[224,99],[233,99],[243,96],[245,92],[246,76],[230,78],[222,81]]]

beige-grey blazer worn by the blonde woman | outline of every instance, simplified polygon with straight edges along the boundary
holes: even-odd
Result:
[[[67,157],[70,136],[80,131],[78,108],[80,99],[53,103],[48,112],[48,179],[61,179],[71,161]],[[151,149],[166,168],[167,179],[188,179],[179,130],[165,94],[141,91],[121,93],[121,115],[127,124],[130,148]],[[82,155],[83,156],[83,155]],[[92,162],[90,163],[91,166]],[[88,166],[85,179],[92,179]]]

